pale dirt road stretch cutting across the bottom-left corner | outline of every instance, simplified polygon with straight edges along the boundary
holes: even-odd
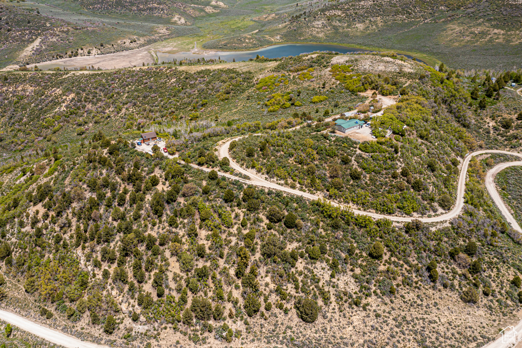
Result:
[[[0,319],[9,322],[11,325],[14,325],[24,331],[30,332],[33,335],[37,335],[46,341],[59,344],[67,348],[108,348],[104,345],[81,341],[75,337],[66,335],[60,331],[46,328],[26,318],[1,309]]]

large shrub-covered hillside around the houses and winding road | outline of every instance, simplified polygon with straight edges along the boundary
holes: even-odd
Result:
[[[513,159],[470,159],[461,214],[415,217],[450,209],[471,150],[520,152],[521,73],[395,54],[2,73],[2,307],[136,348],[483,346],[522,308],[522,238],[484,186]],[[378,139],[335,135],[354,108]],[[136,147],[151,129],[182,161]],[[242,168],[412,221],[247,185],[218,157],[239,136]]]

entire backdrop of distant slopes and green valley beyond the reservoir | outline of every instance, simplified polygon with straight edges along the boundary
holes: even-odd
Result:
[[[341,43],[413,52],[431,65],[441,61],[467,69],[513,69],[520,66],[522,55],[519,0],[38,0],[3,4],[0,68],[74,56],[75,52],[87,55],[80,48],[104,54],[161,42],[163,49],[187,51],[194,41],[198,48],[218,50],[284,42]]]

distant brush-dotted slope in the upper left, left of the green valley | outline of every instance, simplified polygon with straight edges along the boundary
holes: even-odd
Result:
[[[96,9],[95,2],[85,3]],[[124,4],[133,9],[130,4],[124,2],[122,6]],[[96,17],[96,14],[88,13],[75,3],[70,3],[70,6],[58,8],[42,4],[0,3],[0,68],[68,56],[132,50],[198,32],[198,28],[177,25],[170,18],[165,18],[170,7],[163,8],[163,11],[161,6],[151,5],[138,11],[137,4],[134,7],[136,13],[154,16],[152,22],[146,22],[143,19],[138,21],[105,15]],[[187,17],[188,24],[191,17],[185,13],[183,16]]]

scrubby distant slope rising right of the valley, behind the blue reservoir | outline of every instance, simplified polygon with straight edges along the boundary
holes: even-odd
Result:
[[[513,68],[522,52],[521,16],[522,5],[515,1],[314,2],[258,17],[262,30],[205,47],[337,42],[425,53],[456,68]]]

